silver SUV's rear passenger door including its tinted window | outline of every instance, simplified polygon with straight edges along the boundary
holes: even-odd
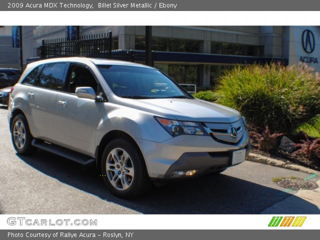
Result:
[[[65,62],[44,64],[34,84],[27,89],[34,137],[53,140],[55,99],[58,91],[64,89],[66,65]]]

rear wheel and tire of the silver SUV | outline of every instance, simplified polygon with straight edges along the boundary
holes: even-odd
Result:
[[[16,152],[21,155],[35,152],[37,148],[31,145],[32,139],[25,117],[22,114],[16,115],[11,124],[11,140]]]

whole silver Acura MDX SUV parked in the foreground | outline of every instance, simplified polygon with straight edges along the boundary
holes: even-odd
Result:
[[[249,152],[238,111],[192,97],[155,68],[124,61],[30,63],[11,90],[8,118],[18,153],[41,148],[95,162],[121,197],[144,192],[154,179],[221,172]]]

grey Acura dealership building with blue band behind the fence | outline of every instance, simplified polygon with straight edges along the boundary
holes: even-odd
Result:
[[[67,26],[23,26],[23,62],[42,39],[65,38]],[[112,31],[112,49],[145,49],[145,26],[79,26],[78,36]],[[180,83],[213,86],[235,64],[307,62],[320,71],[319,26],[152,26],[154,66]],[[35,57],[35,58],[34,58]]]

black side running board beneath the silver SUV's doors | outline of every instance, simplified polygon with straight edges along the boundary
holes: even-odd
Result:
[[[90,156],[78,153],[76,151],[72,151],[70,149],[46,141],[42,141],[40,139],[33,139],[31,145],[43,149],[45,151],[54,153],[56,155],[63,156],[72,161],[80,163],[81,165],[88,165],[90,163],[95,162],[95,159]]]

